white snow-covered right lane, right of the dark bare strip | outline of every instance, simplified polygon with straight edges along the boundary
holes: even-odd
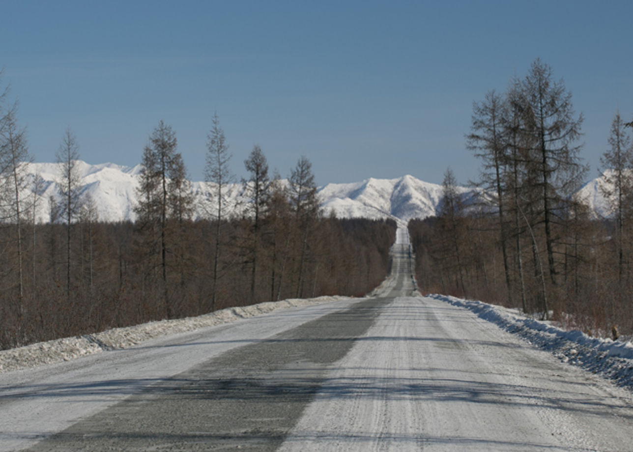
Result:
[[[398,297],[278,450],[627,451],[632,406],[463,306]]]

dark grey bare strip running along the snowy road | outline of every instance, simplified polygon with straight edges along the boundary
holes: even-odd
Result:
[[[388,299],[367,299],[163,380],[29,451],[235,448],[273,451],[310,404],[330,366]],[[330,387],[330,397],[351,391]]]

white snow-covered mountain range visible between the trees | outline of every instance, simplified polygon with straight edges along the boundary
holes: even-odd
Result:
[[[49,220],[49,197],[57,197],[55,180],[58,178],[58,163],[29,163],[28,173],[42,178],[38,191],[37,218],[41,222]],[[77,161],[81,177],[82,192],[90,195],[96,205],[99,219],[103,221],[134,220],[136,189],[139,186],[141,165],[120,166],[113,163],[89,165]],[[605,199],[599,191],[601,178],[588,182],[579,191],[592,211],[598,215],[608,215]],[[210,194],[210,184],[193,182],[192,189],[197,201],[198,215],[202,215],[202,205]],[[473,189],[458,187],[458,192],[466,204],[472,203]],[[241,184],[234,184],[227,190],[229,208],[235,215],[241,213],[244,205]],[[339,218],[394,218],[407,222],[411,218],[427,218],[436,215],[442,203],[442,186],[430,184],[406,175],[398,179],[367,179],[351,184],[328,184],[320,187],[318,196],[325,215],[330,212]]]

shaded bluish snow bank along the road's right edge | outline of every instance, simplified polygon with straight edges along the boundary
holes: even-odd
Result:
[[[518,310],[445,295],[430,298],[466,308],[478,317],[498,325],[537,347],[550,351],[565,363],[577,365],[594,374],[615,380],[620,386],[633,387],[633,344],[589,337],[579,330],[565,331],[551,322],[534,320]]]

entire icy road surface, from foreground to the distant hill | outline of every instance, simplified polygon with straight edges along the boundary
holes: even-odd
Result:
[[[618,389],[439,299],[366,299],[0,374],[0,451],[630,451]]]

